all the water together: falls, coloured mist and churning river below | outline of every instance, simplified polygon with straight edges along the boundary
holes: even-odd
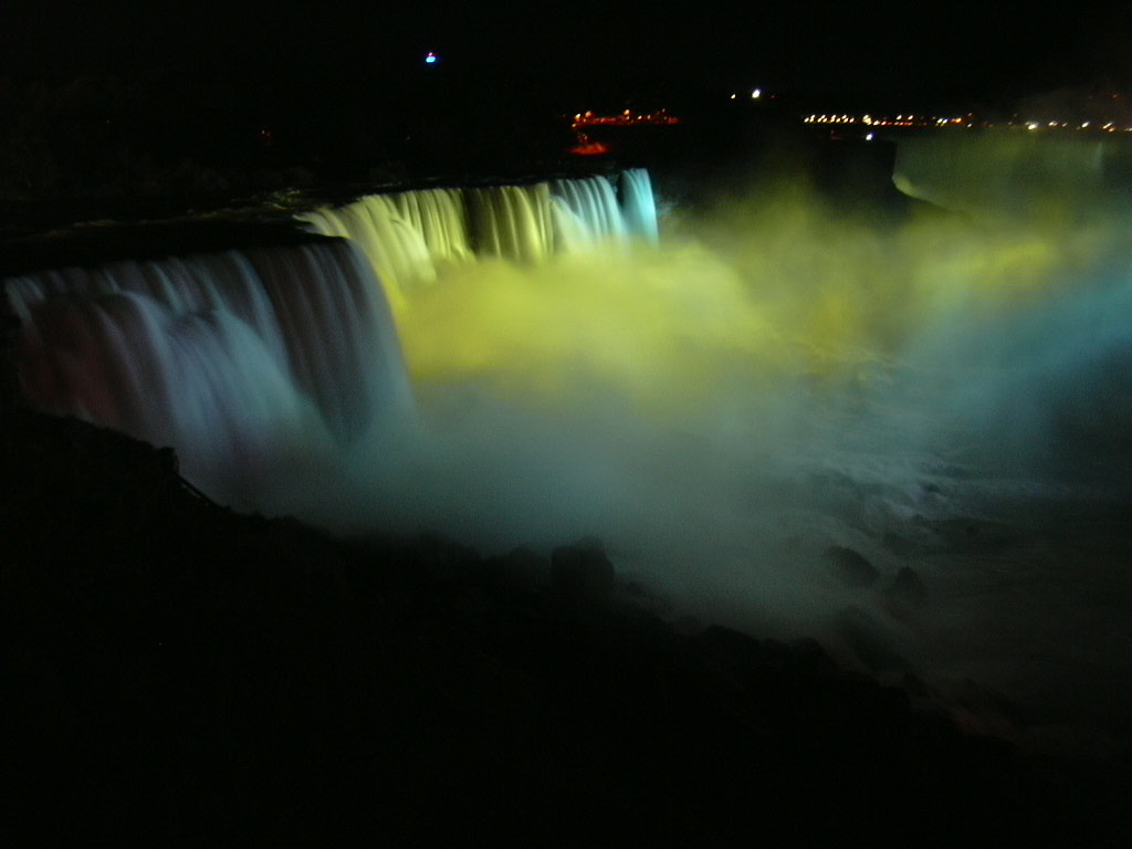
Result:
[[[305,216],[349,242],[28,275],[25,385],[240,506],[492,551],[597,535],[674,612],[1106,747],[1132,730],[1120,160],[1054,156],[1055,180],[1030,139],[954,144],[901,149],[897,185],[936,206],[895,222],[786,179],[658,222],[632,171]]]

